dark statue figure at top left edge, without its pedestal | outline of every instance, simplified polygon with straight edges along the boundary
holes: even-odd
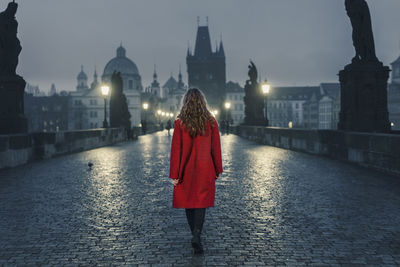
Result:
[[[0,13],[0,76],[16,75],[21,44],[17,38],[18,22],[15,19],[18,4],[8,3],[7,9]]]

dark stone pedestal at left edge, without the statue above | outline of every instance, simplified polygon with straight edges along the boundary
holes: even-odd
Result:
[[[0,77],[0,134],[26,133],[24,115],[25,80],[20,76]]]

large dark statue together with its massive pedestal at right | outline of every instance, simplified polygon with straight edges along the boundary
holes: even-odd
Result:
[[[339,130],[389,132],[387,81],[389,68],[375,54],[371,15],[365,0],[345,0],[353,27],[356,55],[339,72]]]

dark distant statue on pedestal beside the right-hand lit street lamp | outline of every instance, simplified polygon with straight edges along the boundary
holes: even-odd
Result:
[[[264,118],[264,96],[257,82],[257,68],[251,60],[248,75],[249,80],[246,80],[246,85],[244,87],[244,124],[266,126],[267,121]]]

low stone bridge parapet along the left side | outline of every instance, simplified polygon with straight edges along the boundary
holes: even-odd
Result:
[[[123,128],[0,135],[0,169],[126,140]]]

